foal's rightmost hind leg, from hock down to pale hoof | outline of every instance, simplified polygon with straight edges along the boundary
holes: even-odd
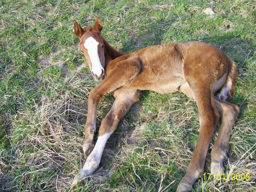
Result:
[[[228,142],[231,130],[239,114],[239,107],[214,97],[214,103],[222,119],[219,135],[212,148],[211,173],[224,173],[223,161],[227,159]]]

